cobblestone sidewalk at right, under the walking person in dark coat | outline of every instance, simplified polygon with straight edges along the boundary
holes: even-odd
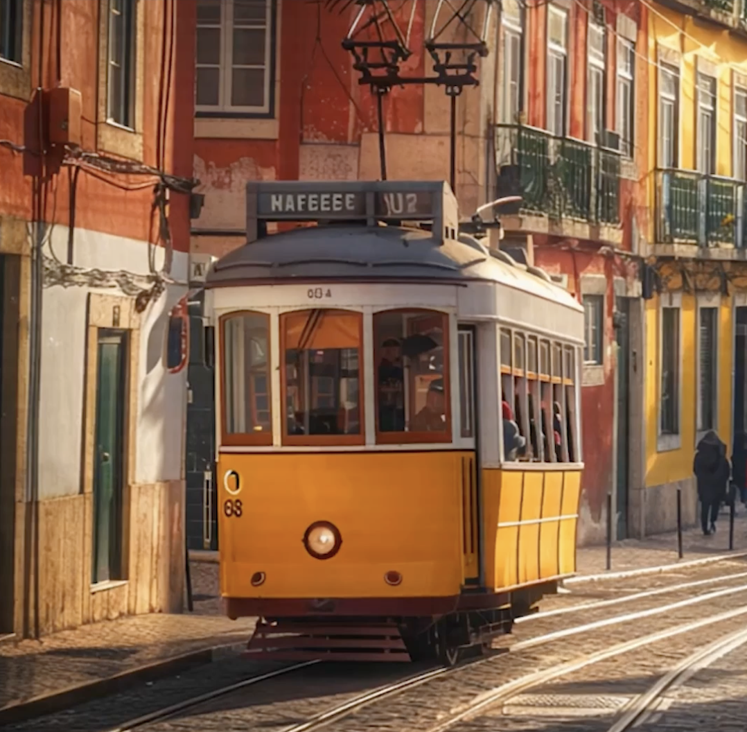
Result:
[[[683,561],[729,553],[729,515],[722,511],[716,534],[703,536],[699,527],[683,532]],[[734,519],[734,551],[747,551],[747,509],[740,506]],[[606,568],[607,548],[582,547],[577,551],[580,574],[597,574]],[[657,534],[645,539],[626,539],[612,548],[612,571],[674,564],[678,562],[677,533]]]

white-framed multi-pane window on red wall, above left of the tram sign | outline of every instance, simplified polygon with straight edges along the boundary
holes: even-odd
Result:
[[[268,114],[273,0],[198,0],[198,111]]]

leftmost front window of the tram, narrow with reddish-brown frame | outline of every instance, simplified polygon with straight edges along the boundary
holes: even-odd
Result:
[[[222,326],[223,442],[272,444],[270,317],[232,314]]]

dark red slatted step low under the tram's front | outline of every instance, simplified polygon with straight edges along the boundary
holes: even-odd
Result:
[[[394,624],[353,625],[260,622],[247,645],[247,656],[261,660],[409,661]]]

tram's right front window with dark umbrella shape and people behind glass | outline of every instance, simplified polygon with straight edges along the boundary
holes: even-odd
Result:
[[[451,441],[448,323],[429,311],[373,316],[379,443]]]

